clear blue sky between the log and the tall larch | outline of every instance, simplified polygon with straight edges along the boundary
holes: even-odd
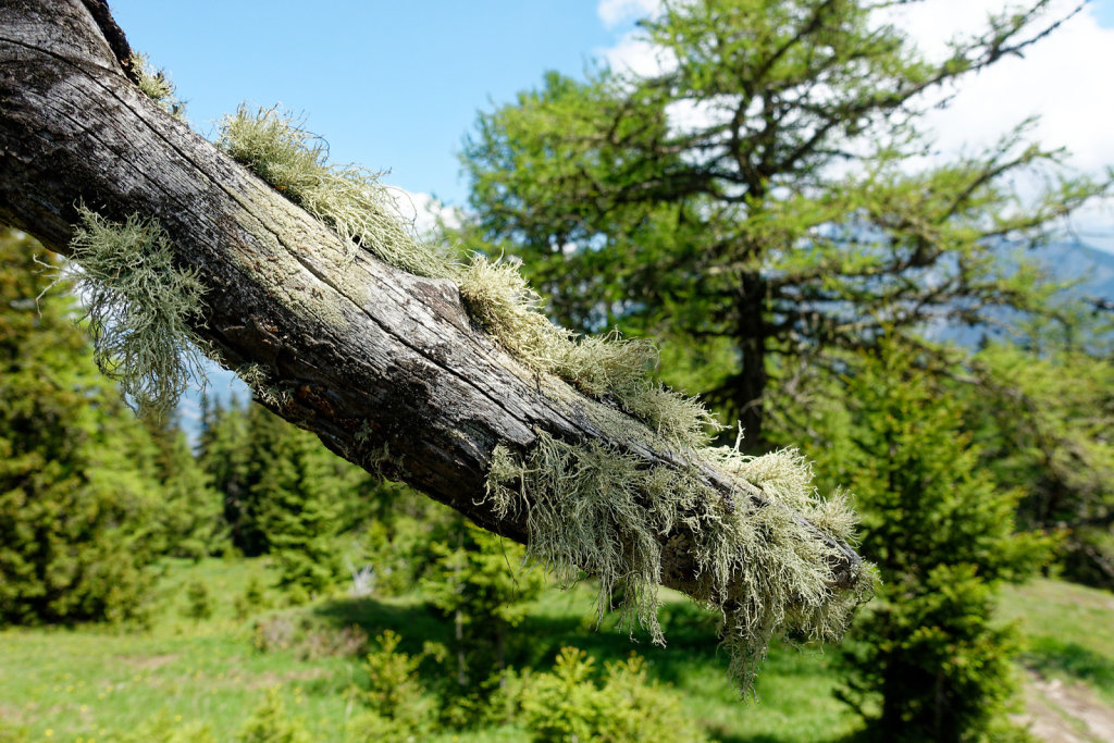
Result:
[[[165,68],[209,133],[243,100],[307,116],[334,162],[462,203],[462,137],[489,101],[577,75],[631,23],[596,0],[152,2],[110,0],[131,46]]]

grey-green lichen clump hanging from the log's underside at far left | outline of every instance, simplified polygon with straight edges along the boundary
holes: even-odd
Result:
[[[68,271],[85,303],[95,359],[145,414],[174,410],[190,379],[204,380],[204,343],[190,327],[205,290],[178,268],[158,222],[131,215],[108,222],[85,206],[70,242]],[[61,277],[61,274],[59,274]]]

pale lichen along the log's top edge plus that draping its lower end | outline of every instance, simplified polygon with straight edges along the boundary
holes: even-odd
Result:
[[[745,691],[771,636],[838,639],[856,606],[872,595],[869,567],[850,581],[837,580],[833,566],[843,556],[818,534],[853,540],[856,517],[846,500],[820,498],[807,462],[793,451],[751,458],[709,447],[721,427],[698,400],[654,381],[658,354],[652,343],[617,333],[578,338],[553,324],[515,265],[482,255],[455,262],[422,243],[373,175],[329,166],[324,145],[274,109],[241,107],[224,120],[219,144],[349,241],[352,255],[364,248],[412,273],[453,281],[476,322],[524,364],[648,430],[618,431],[618,422],[600,421],[604,429],[666,443],[688,460],[647,467],[608,446],[568,443],[541,431],[529,451],[496,448],[488,477],[495,510],[525,510],[528,554],[563,585],[582,571],[597,576],[600,614],[619,592],[624,617],[664,643],[657,620],[662,549],[667,540],[687,540],[694,597],[722,613],[731,674]],[[705,465],[733,478],[737,497],[725,498],[707,483],[698,472]]]

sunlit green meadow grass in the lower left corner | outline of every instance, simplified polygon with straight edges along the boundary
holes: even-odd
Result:
[[[278,686],[287,707],[326,740],[330,721],[344,715],[350,663],[253,649],[251,622],[233,618],[232,602],[260,568],[221,560],[173,565],[149,629],[0,632],[0,720],[26,726],[33,741],[88,743],[119,740],[163,714],[183,725],[204,721],[228,740],[267,688]],[[213,618],[182,615],[188,580],[211,586]]]

